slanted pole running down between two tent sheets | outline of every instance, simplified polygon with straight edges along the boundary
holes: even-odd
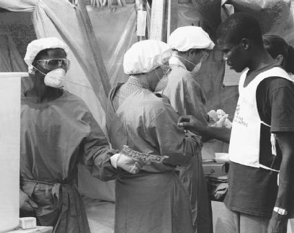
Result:
[[[99,74],[97,74],[97,75],[99,75],[101,77],[102,86],[104,87],[104,91],[105,91],[106,97],[107,97],[111,86],[110,86],[108,74],[107,74],[103,59],[102,59],[101,50],[99,48],[99,44],[98,44],[97,38],[95,36],[95,32],[93,30],[93,26],[90,21],[90,17],[88,15],[84,1],[80,1],[80,0],[77,1],[77,6],[79,8],[78,10],[81,12],[81,18],[84,21],[85,29],[88,32],[88,40],[90,42],[90,46],[91,46],[93,54],[94,54],[95,63],[97,65],[98,72],[99,72]]]

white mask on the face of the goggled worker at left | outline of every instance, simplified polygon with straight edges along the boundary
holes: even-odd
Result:
[[[35,67],[37,71],[41,74],[45,75],[44,83],[46,86],[54,87],[54,88],[61,88],[63,86],[63,81],[66,77],[66,71],[63,68],[56,68],[53,71],[48,73],[43,73],[39,69]]]

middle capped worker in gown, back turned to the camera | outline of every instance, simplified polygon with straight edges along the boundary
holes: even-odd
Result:
[[[169,157],[145,164],[139,174],[117,176],[115,233],[194,232],[188,195],[175,173],[177,165],[190,160],[194,141],[177,127],[173,107],[154,93],[164,88],[161,80],[170,72],[171,54],[161,41],[133,44],[124,55],[124,72],[130,77],[110,91],[106,124],[112,147],[127,145]]]

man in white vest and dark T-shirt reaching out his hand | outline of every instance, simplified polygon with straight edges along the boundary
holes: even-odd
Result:
[[[262,42],[251,15],[235,13],[217,29],[228,66],[242,72],[232,130],[207,127],[192,116],[179,126],[230,142],[226,212],[217,233],[286,233],[293,218],[294,87]]]

